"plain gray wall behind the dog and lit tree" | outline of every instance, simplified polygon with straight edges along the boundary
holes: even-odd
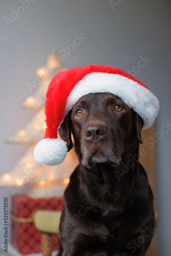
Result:
[[[22,12],[18,8],[21,4],[16,0],[1,0],[0,120],[4,120],[0,124],[1,175],[18,162],[28,147],[4,143],[7,135],[24,127],[35,114],[20,108],[20,103],[30,96],[27,82],[33,81],[35,71],[46,61],[50,50],[55,46],[60,51],[67,48],[75,34],[82,33],[86,39],[66,56],[67,68],[91,63],[138,72],[136,78],[160,100],[157,131],[163,121],[171,122],[170,0],[115,2],[120,4],[113,10],[104,0],[32,0],[30,7],[7,26],[4,17],[11,18],[12,8]],[[137,70],[140,55],[151,60]],[[171,250],[170,134],[168,129],[168,133],[156,140],[159,256],[169,256]],[[10,198],[9,190],[2,189],[2,224],[3,198],[7,196]],[[0,225],[0,243],[4,242],[3,232]]]

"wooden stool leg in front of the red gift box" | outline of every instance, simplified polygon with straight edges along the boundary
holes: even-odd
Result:
[[[41,233],[41,252],[43,256],[51,256],[52,243],[48,233]]]

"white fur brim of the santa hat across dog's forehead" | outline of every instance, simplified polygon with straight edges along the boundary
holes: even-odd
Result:
[[[75,103],[89,93],[108,92],[119,96],[144,121],[143,129],[151,127],[159,112],[156,96],[136,81],[119,74],[93,72],[83,77],[70,93],[62,121]]]

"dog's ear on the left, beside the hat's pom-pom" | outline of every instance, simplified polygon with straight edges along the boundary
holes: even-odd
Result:
[[[65,120],[61,123],[58,131],[62,140],[67,142],[68,152],[73,147],[72,138],[71,138],[71,129],[72,128],[71,128],[71,111],[70,111],[66,116]]]

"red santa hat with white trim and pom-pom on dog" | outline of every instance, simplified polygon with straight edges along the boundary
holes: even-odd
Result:
[[[45,138],[34,150],[37,162],[61,163],[67,155],[66,144],[57,139],[60,124],[83,95],[112,93],[119,96],[143,119],[143,129],[151,127],[159,112],[159,101],[142,82],[126,72],[109,67],[89,65],[62,71],[51,80],[45,104],[47,129]]]

